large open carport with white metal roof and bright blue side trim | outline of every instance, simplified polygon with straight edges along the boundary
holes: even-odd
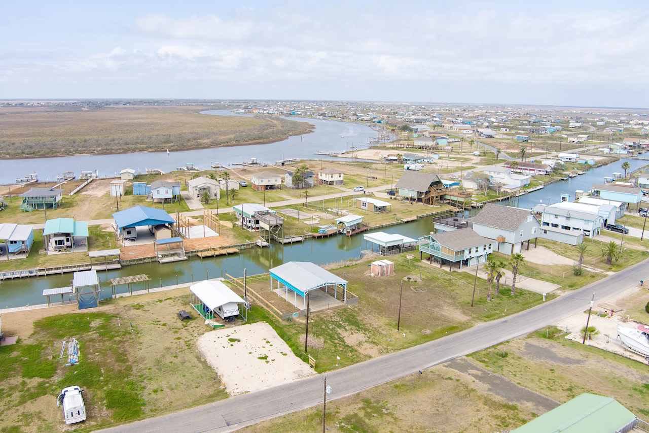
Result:
[[[269,269],[271,276],[270,284],[273,290],[273,280],[277,282],[277,289],[280,290],[280,284],[286,287],[285,294],[288,302],[288,290],[293,291],[294,305],[297,306],[297,296],[302,296],[302,308],[306,308],[306,296],[315,289],[334,286],[334,298],[337,299],[338,286],[343,289],[343,302],[347,303],[347,280],[343,280],[336,274],[332,274],[315,263],[310,261],[289,261]]]

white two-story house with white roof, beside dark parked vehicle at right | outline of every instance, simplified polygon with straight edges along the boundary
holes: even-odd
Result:
[[[541,213],[541,228],[552,227],[583,233],[595,237],[602,231],[604,218],[597,206],[585,203],[561,202],[553,205],[536,205],[534,211]]]

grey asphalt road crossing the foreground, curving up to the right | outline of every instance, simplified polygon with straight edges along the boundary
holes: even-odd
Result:
[[[593,293],[596,293],[596,301],[604,300],[636,285],[641,279],[646,280],[648,273],[649,261],[643,261],[604,280],[516,315],[486,322],[429,343],[332,371],[326,375],[327,384],[332,387],[329,399],[352,395],[458,356],[528,334],[587,309]],[[321,404],[322,396],[323,380],[322,375],[318,374],[290,384],[117,426],[106,431],[225,432]],[[177,398],[182,399],[182,391],[178,391]]]

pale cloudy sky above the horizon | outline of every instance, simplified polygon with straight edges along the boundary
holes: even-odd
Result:
[[[0,1],[0,98],[649,107],[643,1]]]

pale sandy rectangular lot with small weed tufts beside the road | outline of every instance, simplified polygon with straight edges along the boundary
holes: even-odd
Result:
[[[201,335],[198,347],[230,395],[293,382],[313,370],[265,322]]]

